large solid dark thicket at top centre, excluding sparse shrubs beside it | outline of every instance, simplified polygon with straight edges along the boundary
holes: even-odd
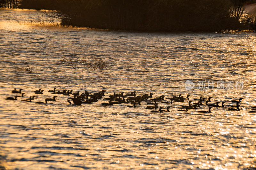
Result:
[[[227,29],[225,0],[61,0],[69,8],[63,25],[136,31],[216,31]],[[76,3],[75,3],[76,2]],[[65,4],[66,4],[65,3]]]

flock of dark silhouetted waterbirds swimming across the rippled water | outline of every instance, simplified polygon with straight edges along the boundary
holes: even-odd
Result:
[[[12,90],[12,93],[14,94],[21,94],[21,96],[15,96],[15,97],[6,97],[6,100],[17,100],[18,97],[24,98],[24,94],[22,93],[23,89],[20,90]],[[39,90],[35,90],[34,93],[35,94],[43,94],[43,89],[39,89]],[[103,100],[108,100],[108,103],[101,103],[100,105],[102,106],[112,106],[114,104],[129,104],[129,105],[125,105],[126,107],[133,107],[135,108],[136,105],[141,105],[141,103],[143,102],[143,104],[147,104],[148,106],[145,107],[145,109],[149,109],[151,110],[150,112],[170,112],[169,108],[172,106],[168,106],[166,108],[166,110],[164,110],[164,107],[160,107],[158,109],[158,104],[172,104],[172,103],[185,103],[185,100],[188,101],[188,105],[182,105],[181,108],[178,110],[179,112],[188,112],[188,110],[190,109],[199,109],[199,107],[201,105],[206,105],[209,107],[209,109],[207,110],[201,110],[198,111],[200,113],[211,113],[211,109],[213,107],[218,108],[218,107],[222,107],[224,108],[224,104],[226,102],[229,102],[231,104],[228,104],[226,106],[228,106],[228,111],[239,111],[239,104],[242,102],[243,98],[239,98],[239,100],[231,100],[231,101],[218,101],[216,102],[216,104],[209,104],[209,102],[211,102],[211,98],[212,97],[200,97],[200,98],[195,98],[193,100],[189,99],[189,96],[191,95],[187,95],[187,97],[183,97],[181,94],[179,96],[173,96],[172,98],[165,98],[164,99],[164,95],[161,95],[159,97],[152,97],[154,95],[154,93],[150,93],[150,94],[144,94],[142,96],[137,96],[136,91],[132,91],[130,94],[125,94],[124,92],[121,92],[121,94],[119,93],[114,93],[113,95],[109,95],[108,97],[106,97],[104,95],[104,93],[106,92],[105,90],[101,90],[100,92],[96,92],[93,94],[88,93],[87,90],[85,90],[84,93],[80,93],[80,91],[77,91],[76,93],[72,93],[72,90],[63,90],[63,91],[56,91],[56,88],[54,88],[53,90],[49,90],[48,92],[51,92],[52,95],[54,95],[52,98],[45,98],[44,101],[45,102],[36,102],[36,104],[48,104],[47,101],[56,101],[56,95],[64,95],[64,96],[73,96],[73,97],[69,97],[67,99],[67,102],[70,105],[77,105],[77,106],[81,106],[82,104],[92,104],[95,102],[98,102],[100,99]],[[20,100],[22,102],[32,102],[32,100],[34,100],[36,96],[30,96],[29,98],[25,99],[25,100]],[[72,103],[72,102],[73,103]],[[193,102],[193,104],[191,104]],[[204,103],[203,103],[204,102]],[[219,105],[221,103],[221,105]],[[236,105],[233,105],[235,104]],[[251,111],[249,112],[256,112],[256,106],[252,106]]]

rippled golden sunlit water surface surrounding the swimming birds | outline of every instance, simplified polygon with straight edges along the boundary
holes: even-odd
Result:
[[[256,167],[255,33],[140,33],[29,24],[33,10],[0,9],[0,148],[6,169],[253,169]],[[40,15],[40,14],[39,14]],[[15,21],[19,20],[19,22]],[[60,63],[60,60],[77,60]],[[85,67],[104,61],[107,69]],[[191,89],[185,82],[191,81]],[[193,83],[192,83],[193,82]],[[69,105],[48,90],[106,90],[165,98],[213,97],[153,113],[114,104]],[[209,88],[208,88],[209,87]],[[26,97],[14,97],[23,89]],[[44,89],[43,94],[33,91]],[[189,89],[189,90],[188,90]],[[20,94],[18,94],[20,95]],[[22,102],[29,96],[35,100]],[[72,96],[72,95],[71,95]],[[69,96],[70,97],[70,96]],[[73,96],[72,96],[73,97]],[[228,111],[243,98],[240,111]],[[165,100],[170,101],[170,100]],[[203,102],[203,104],[205,104]]]

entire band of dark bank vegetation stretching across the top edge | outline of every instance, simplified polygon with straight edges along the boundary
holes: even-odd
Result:
[[[62,26],[128,31],[256,31],[255,14],[249,15],[243,8],[245,4],[255,2],[20,0],[20,8],[51,10],[49,16],[60,19]]]

